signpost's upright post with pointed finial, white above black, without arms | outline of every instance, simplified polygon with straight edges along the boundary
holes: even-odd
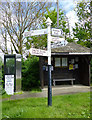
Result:
[[[48,106],[52,106],[52,81],[51,81],[51,23],[50,18],[46,21],[48,26],[48,34],[47,34],[47,50],[48,50]]]

